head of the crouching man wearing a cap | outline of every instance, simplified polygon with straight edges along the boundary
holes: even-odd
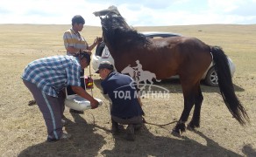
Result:
[[[100,74],[100,77],[105,79],[108,77],[110,72],[113,72],[114,66],[109,61],[103,61],[99,67],[96,73]]]

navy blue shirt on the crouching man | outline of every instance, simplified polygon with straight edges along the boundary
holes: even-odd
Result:
[[[102,81],[103,93],[112,101],[111,115],[126,119],[143,114],[137,90],[130,85],[132,81],[131,77],[117,72],[111,72]]]

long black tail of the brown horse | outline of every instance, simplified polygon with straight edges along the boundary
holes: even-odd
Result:
[[[215,69],[217,71],[218,86],[224,99],[224,103],[230,110],[233,117],[237,119],[242,126],[244,126],[245,123],[250,120],[245,108],[241,105],[234,92],[228,58],[224,54],[222,48],[218,46],[212,46],[211,53],[215,63]]]

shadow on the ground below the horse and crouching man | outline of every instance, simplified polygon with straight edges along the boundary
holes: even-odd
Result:
[[[220,147],[203,133],[198,134],[207,141],[206,145],[186,137],[173,139],[156,136],[150,133],[146,126],[136,133],[136,140],[133,142],[124,140],[124,134],[123,131],[114,136],[115,147],[112,150],[104,150],[103,156],[241,156]]]

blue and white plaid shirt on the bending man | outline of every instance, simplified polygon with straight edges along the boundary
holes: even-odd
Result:
[[[25,67],[23,79],[39,87],[47,95],[57,93],[68,85],[81,85],[81,65],[73,56],[39,58]]]

